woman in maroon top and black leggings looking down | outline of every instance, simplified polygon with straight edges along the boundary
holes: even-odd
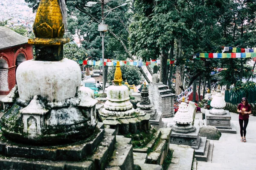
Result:
[[[246,97],[242,98],[242,102],[237,107],[237,112],[239,113],[239,125],[240,125],[240,134],[241,142],[246,142],[246,127],[249,122],[249,114],[251,113],[252,108],[248,104],[248,99]],[[243,137],[244,133],[244,137]]]

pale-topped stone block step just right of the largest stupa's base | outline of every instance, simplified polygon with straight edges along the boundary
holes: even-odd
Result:
[[[108,167],[119,167],[121,170],[132,170],[134,168],[132,144],[129,138],[116,136],[115,150]],[[108,169],[108,168],[107,168]]]

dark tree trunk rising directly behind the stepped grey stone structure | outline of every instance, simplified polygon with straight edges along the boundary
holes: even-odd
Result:
[[[165,50],[162,50],[161,52],[161,65],[160,65],[160,82],[163,82],[164,85],[167,85],[167,59],[168,59],[168,53],[165,52]]]

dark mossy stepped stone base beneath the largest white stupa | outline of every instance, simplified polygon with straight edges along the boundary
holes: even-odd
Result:
[[[1,170],[101,170],[105,167],[133,168],[132,145],[116,146],[115,130],[98,123],[91,138],[67,145],[37,147],[0,140]],[[111,161],[113,153],[115,160]],[[122,155],[122,156],[121,156]]]

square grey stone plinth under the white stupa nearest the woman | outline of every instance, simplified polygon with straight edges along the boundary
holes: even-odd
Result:
[[[231,115],[229,111],[224,115],[213,115],[210,110],[205,110],[204,125],[215,126],[221,133],[236,133],[236,128],[230,123]]]

